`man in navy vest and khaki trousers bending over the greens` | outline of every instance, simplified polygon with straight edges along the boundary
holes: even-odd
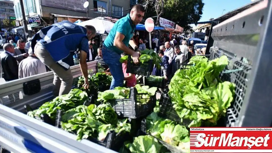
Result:
[[[34,54],[54,72],[54,96],[69,93],[73,84],[70,66],[74,65],[74,51],[80,51],[80,68],[85,78],[84,88],[89,88],[88,68],[86,63],[89,51],[88,40],[95,36],[93,26],[78,26],[69,21],[62,21],[42,28],[31,42]],[[72,53],[72,54],[71,54]]]

